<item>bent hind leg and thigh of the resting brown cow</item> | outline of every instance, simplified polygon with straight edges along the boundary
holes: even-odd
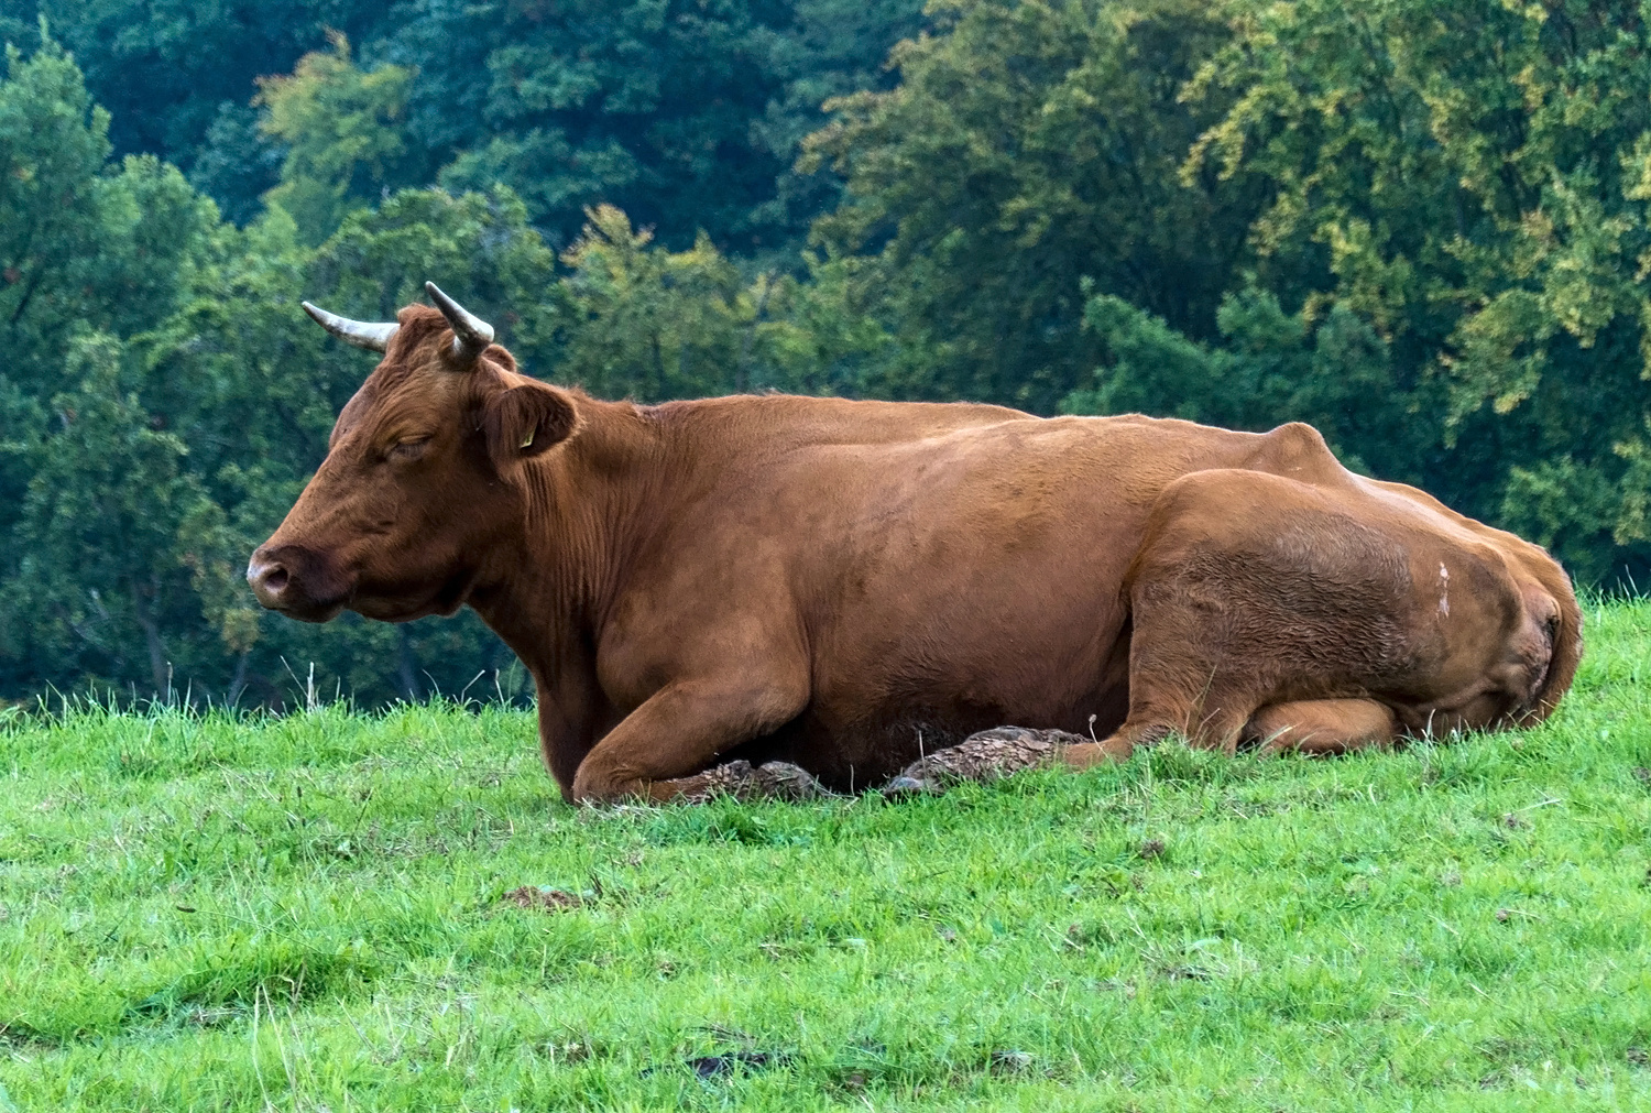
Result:
[[[1329,699],[1379,687],[1407,659],[1405,548],[1342,502],[1243,471],[1166,489],[1128,573],[1129,715],[1114,750],[1177,732],[1232,753],[1258,736],[1258,713],[1273,730],[1308,717],[1317,730],[1294,735],[1308,748],[1313,735],[1346,748],[1397,733],[1385,708]]]

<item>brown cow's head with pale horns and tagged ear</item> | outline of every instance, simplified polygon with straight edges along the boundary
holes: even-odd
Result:
[[[404,621],[451,614],[520,519],[528,457],[573,436],[573,398],[518,375],[492,327],[426,282],[436,309],[324,329],[383,352],[332,429],[327,459],[259,545],[246,578],[267,608],[309,623],[343,609]],[[438,312],[439,310],[439,312]]]

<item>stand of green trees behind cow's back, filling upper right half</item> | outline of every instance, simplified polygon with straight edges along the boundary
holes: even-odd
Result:
[[[809,140],[860,390],[1308,419],[1585,578],[1651,558],[1639,3],[939,12]]]

